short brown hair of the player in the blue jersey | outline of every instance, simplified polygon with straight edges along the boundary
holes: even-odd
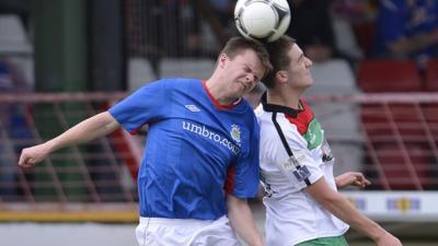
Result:
[[[226,54],[230,59],[233,59],[235,56],[242,54],[242,51],[246,49],[252,49],[255,51],[258,59],[262,61],[262,66],[265,68],[265,77],[270,69],[273,69],[273,66],[270,65],[268,52],[262,43],[246,39],[241,36],[231,37],[220,54]]]

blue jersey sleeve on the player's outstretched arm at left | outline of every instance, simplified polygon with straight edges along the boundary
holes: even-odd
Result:
[[[135,93],[110,108],[110,114],[130,133],[145,124],[158,121],[169,110],[171,84],[159,80],[137,90]]]

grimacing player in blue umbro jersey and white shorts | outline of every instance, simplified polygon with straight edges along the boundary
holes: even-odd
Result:
[[[140,245],[263,245],[246,198],[258,187],[258,125],[245,92],[270,70],[261,44],[231,38],[208,80],[163,79],[59,137],[24,149],[34,166],[65,147],[148,124],[138,175]]]

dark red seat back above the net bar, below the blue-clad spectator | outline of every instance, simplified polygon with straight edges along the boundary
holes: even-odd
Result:
[[[367,59],[357,72],[364,92],[415,92],[422,90],[419,72],[413,61]]]

